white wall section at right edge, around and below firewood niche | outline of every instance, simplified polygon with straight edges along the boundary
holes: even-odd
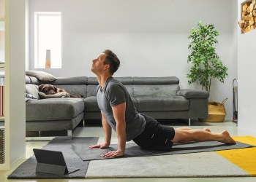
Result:
[[[241,20],[241,3],[238,0],[238,20]],[[256,132],[256,30],[241,34],[238,28],[238,127]]]

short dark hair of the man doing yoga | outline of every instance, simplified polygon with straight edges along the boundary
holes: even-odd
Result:
[[[111,50],[105,50],[103,53],[107,55],[105,57],[104,64],[110,65],[110,74],[113,75],[117,71],[118,67],[120,66],[120,60],[117,58],[115,53],[112,52]]]

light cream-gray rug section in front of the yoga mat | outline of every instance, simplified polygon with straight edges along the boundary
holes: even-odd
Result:
[[[189,178],[250,175],[215,151],[90,162],[86,178]],[[171,180],[171,179],[170,179]],[[195,180],[197,181],[197,180]]]

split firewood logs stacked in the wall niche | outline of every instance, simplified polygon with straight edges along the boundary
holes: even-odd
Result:
[[[241,21],[238,25],[243,33],[256,28],[256,0],[245,1],[241,4]]]

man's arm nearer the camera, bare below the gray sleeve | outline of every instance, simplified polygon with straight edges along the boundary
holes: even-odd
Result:
[[[102,154],[102,157],[121,157],[124,155],[126,144],[126,103],[121,103],[112,107],[113,116],[116,121],[116,135],[118,138],[118,150]]]

